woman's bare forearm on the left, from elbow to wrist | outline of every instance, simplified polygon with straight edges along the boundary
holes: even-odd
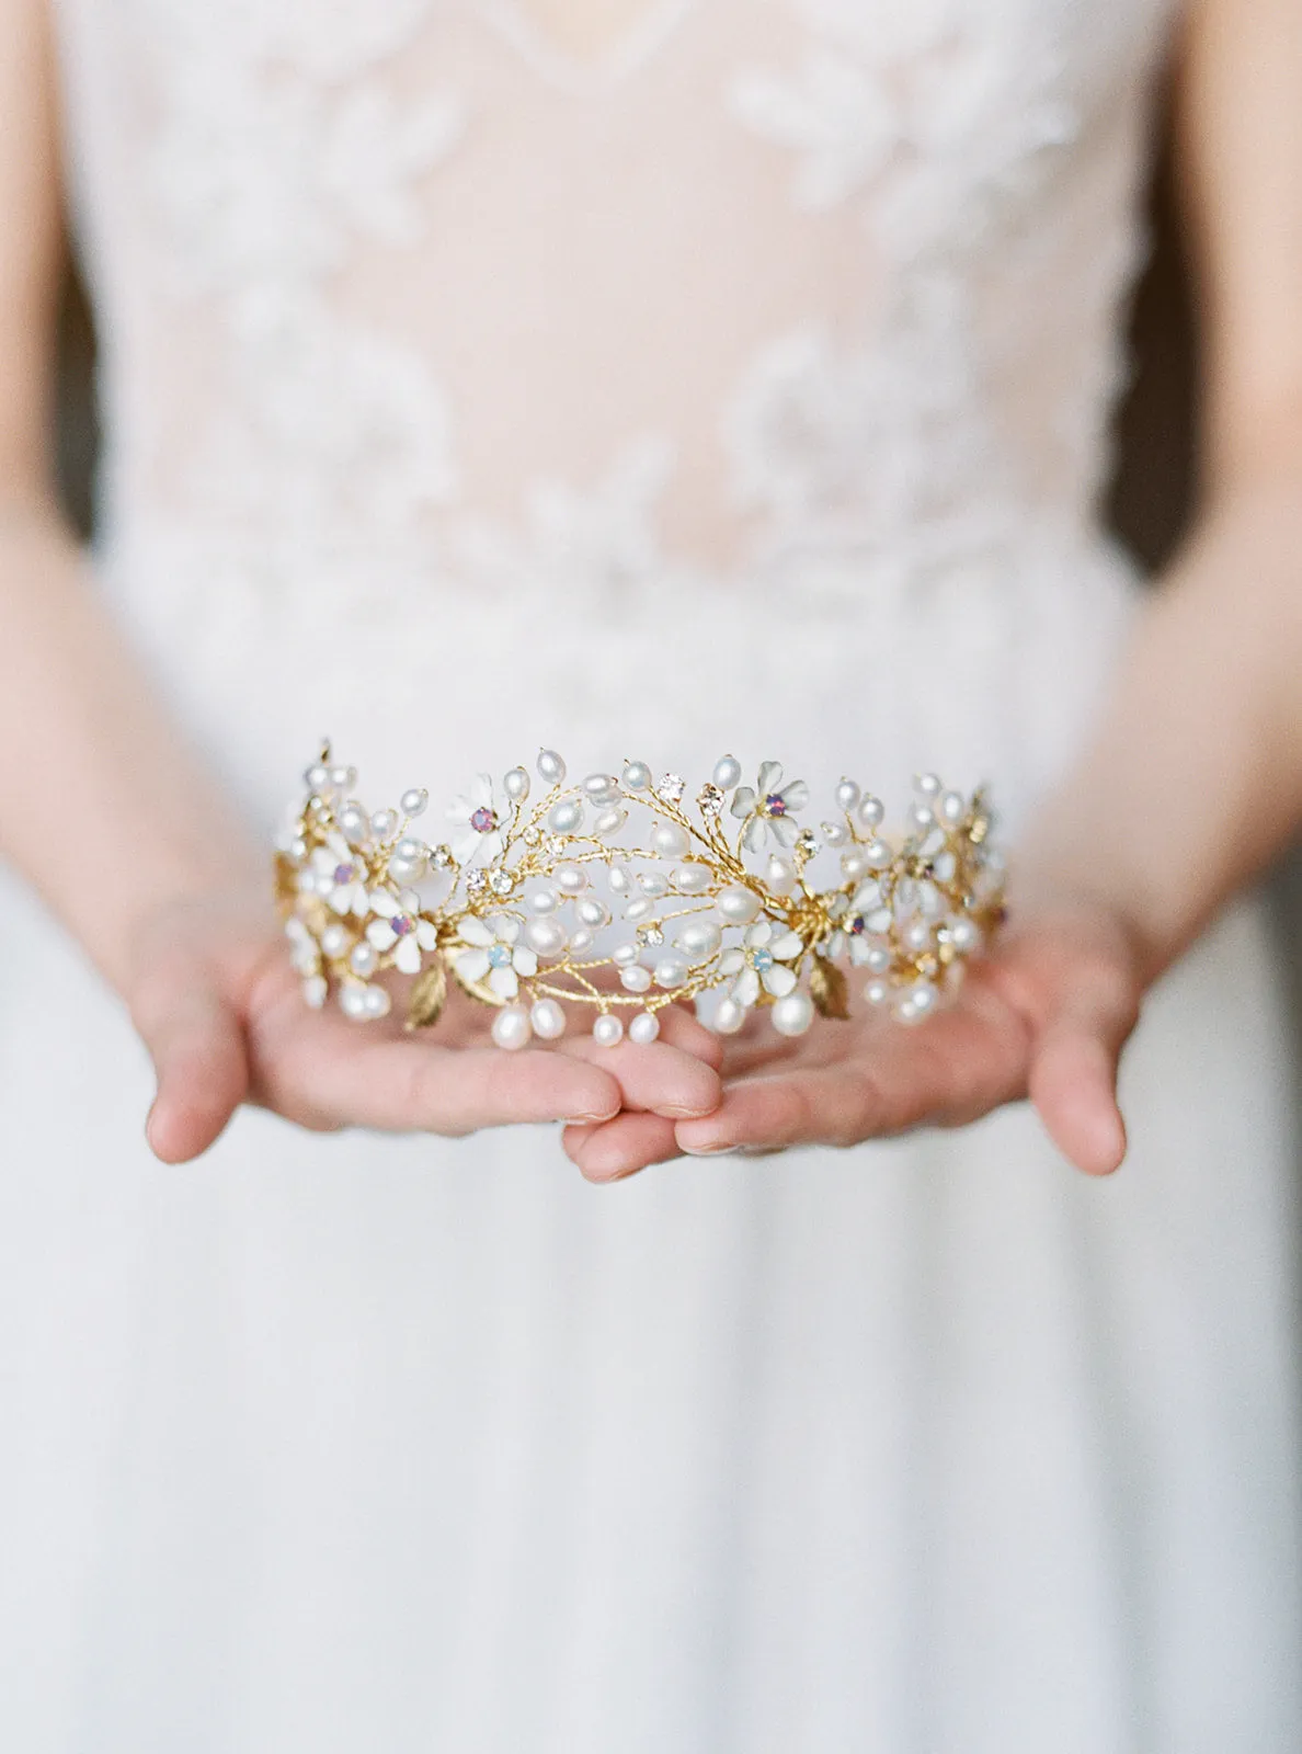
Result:
[[[258,870],[53,509],[0,510],[0,856],[119,991],[170,902]]]

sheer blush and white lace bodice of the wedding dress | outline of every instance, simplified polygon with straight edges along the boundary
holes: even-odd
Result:
[[[1169,0],[60,12],[111,545],[619,602],[1093,516]]]

